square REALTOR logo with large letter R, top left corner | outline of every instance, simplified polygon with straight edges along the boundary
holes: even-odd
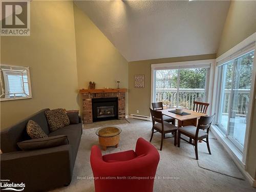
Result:
[[[30,35],[30,1],[1,1],[1,35]]]

